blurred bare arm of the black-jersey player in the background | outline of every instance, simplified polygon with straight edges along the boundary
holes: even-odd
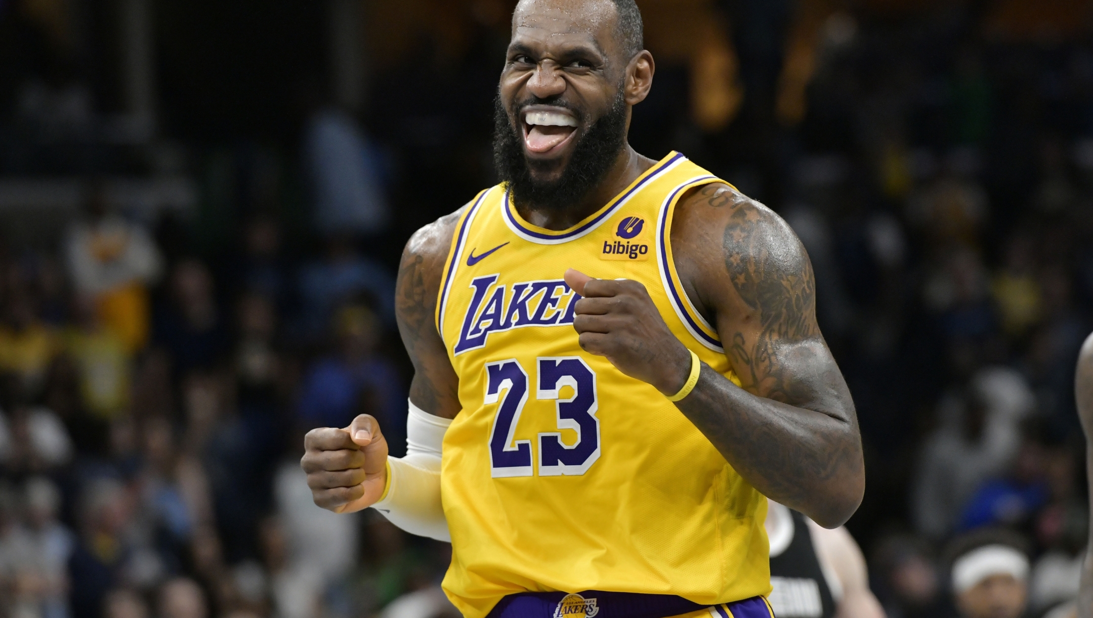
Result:
[[[812,521],[809,521],[809,532],[820,562],[835,573],[843,587],[835,617],[884,618],[884,609],[869,590],[866,558],[850,533],[844,527],[822,528]]]

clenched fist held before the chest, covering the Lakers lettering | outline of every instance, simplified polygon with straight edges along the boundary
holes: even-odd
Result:
[[[572,268],[565,271],[565,282],[584,296],[573,320],[583,350],[607,357],[619,371],[665,395],[683,387],[691,353],[668,329],[645,285],[630,279],[592,279]]]

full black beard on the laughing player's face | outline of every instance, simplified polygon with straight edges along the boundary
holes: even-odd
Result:
[[[513,116],[518,116],[526,105],[537,103],[559,104],[539,98],[524,101],[514,106]],[[508,184],[515,203],[536,210],[564,211],[579,203],[603,180],[626,143],[626,100],[620,89],[611,109],[578,139],[561,176],[544,183],[531,175],[531,167],[537,164],[524,155],[522,127],[518,124],[513,128],[500,96],[494,100],[493,118],[493,164],[497,176]],[[577,118],[581,119],[579,114]]]

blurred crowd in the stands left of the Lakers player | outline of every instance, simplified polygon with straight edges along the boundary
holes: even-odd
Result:
[[[438,582],[442,544],[312,503],[304,432],[372,413],[397,453],[406,381],[387,271],[341,238],[282,264],[282,233],[256,217],[219,270],[167,259],[92,183],[58,252],[4,256],[12,616],[348,616]]]

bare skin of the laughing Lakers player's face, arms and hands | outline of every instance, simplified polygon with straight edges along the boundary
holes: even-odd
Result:
[[[653,56],[643,50],[627,59],[621,54],[613,12],[610,0],[524,0],[514,13],[500,89],[513,127],[527,129],[513,105],[531,97],[564,101],[581,115],[574,135],[556,147],[525,149],[538,180],[564,173],[577,138],[610,109],[620,88],[627,117],[628,107],[649,92]],[[530,223],[565,230],[654,163],[627,144],[599,186],[572,208],[516,208]],[[396,293],[399,331],[414,365],[410,398],[444,418],[460,410],[458,376],[436,331],[434,312],[460,212],[410,238]],[[842,525],[865,491],[861,441],[849,390],[816,327],[814,280],[804,248],[777,214],[725,184],[683,196],[671,240],[686,293],[716,325],[743,383],[738,387],[703,365],[697,386],[677,406],[762,493],[825,527]],[[577,303],[574,327],[587,352],[607,357],[626,375],[666,395],[679,390],[690,373],[690,353],[644,287],[590,280],[572,269],[565,278],[586,296]],[[315,502],[337,512],[375,502],[387,455],[386,443],[380,447],[377,442],[383,442],[378,424],[365,415],[344,429],[309,432],[302,465]],[[361,450],[364,462],[354,454]],[[352,482],[360,485],[346,485]]]

